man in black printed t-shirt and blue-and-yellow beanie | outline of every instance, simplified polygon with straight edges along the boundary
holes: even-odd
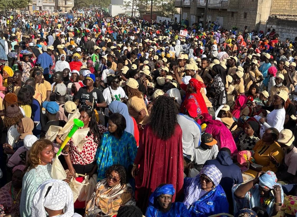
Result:
[[[103,108],[106,108],[107,104],[102,95],[102,91],[94,87],[95,75],[87,74],[85,76],[85,81],[86,87],[81,87],[78,90],[78,93],[74,98],[74,102],[76,105],[79,104],[79,107],[84,105],[96,108],[99,114],[99,119],[101,121],[99,124],[105,125]]]

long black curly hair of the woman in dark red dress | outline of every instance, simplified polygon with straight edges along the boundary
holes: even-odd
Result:
[[[177,114],[178,110],[172,97],[158,96],[150,117],[153,133],[162,140],[169,139],[177,124]]]

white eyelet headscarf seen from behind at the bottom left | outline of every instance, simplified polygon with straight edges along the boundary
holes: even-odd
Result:
[[[49,187],[51,189],[46,195]],[[72,217],[76,214],[74,213],[72,190],[67,182],[50,179],[37,188],[32,201],[31,216],[46,217],[45,207],[50,210],[63,209],[64,214],[59,215],[61,217]]]

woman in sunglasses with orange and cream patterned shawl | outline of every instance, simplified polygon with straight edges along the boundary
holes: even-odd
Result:
[[[132,187],[127,184],[125,167],[112,165],[99,181],[95,191],[86,205],[88,216],[114,216],[123,205],[135,205]]]

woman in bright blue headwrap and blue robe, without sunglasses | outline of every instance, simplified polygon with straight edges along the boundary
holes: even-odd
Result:
[[[190,217],[189,210],[180,202],[172,202],[175,189],[172,184],[160,184],[149,197],[146,217]]]

